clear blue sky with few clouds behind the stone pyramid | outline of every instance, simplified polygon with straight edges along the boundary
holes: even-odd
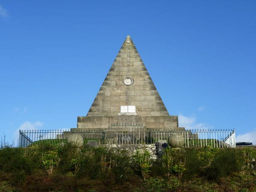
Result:
[[[256,1],[0,1],[0,136],[76,128],[129,34],[170,115],[256,142]]]

